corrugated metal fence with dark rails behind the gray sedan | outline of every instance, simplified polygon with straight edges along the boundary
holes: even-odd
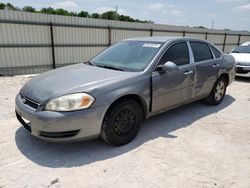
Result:
[[[0,75],[40,73],[84,62],[117,41],[142,36],[207,39],[225,52],[250,41],[249,32],[0,10]]]

